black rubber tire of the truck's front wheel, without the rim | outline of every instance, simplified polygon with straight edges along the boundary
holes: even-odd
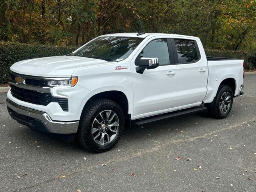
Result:
[[[97,115],[104,110],[112,110],[116,113],[119,120],[118,131],[114,139],[107,144],[98,144],[92,134],[92,126]],[[78,141],[80,145],[90,152],[104,152],[113,148],[120,140],[124,130],[124,113],[122,108],[111,100],[96,99],[92,100],[83,110],[79,127],[78,127]],[[105,130],[106,131],[106,130]],[[104,139],[103,139],[104,140]]]

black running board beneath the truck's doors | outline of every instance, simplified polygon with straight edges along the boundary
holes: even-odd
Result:
[[[163,119],[168,119],[168,118],[174,118],[174,117],[180,117],[186,114],[192,114],[192,113],[197,113],[197,112],[201,112],[201,111],[205,111],[207,110],[207,107],[205,107],[204,105],[201,105],[199,107],[194,107],[194,108],[188,108],[188,109],[184,109],[184,110],[178,110],[176,112],[170,112],[168,114],[162,114],[162,115],[158,115],[158,116],[152,116],[152,117],[148,117],[148,118],[142,118],[139,120],[135,120],[135,122],[133,122],[135,125],[141,125],[141,124],[145,124],[145,123],[150,123],[153,121],[158,121],[158,120],[163,120]]]

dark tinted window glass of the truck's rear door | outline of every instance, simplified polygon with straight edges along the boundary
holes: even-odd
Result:
[[[193,40],[174,39],[179,63],[189,63],[198,60],[196,45]]]

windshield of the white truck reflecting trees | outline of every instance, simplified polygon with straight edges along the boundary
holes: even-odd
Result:
[[[143,39],[138,37],[99,37],[74,52],[72,56],[122,61],[132,53]]]

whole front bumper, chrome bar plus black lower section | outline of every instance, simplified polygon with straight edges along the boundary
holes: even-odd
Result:
[[[13,119],[39,132],[75,134],[78,130],[79,121],[53,121],[46,112],[18,105],[8,98],[6,104]]]

